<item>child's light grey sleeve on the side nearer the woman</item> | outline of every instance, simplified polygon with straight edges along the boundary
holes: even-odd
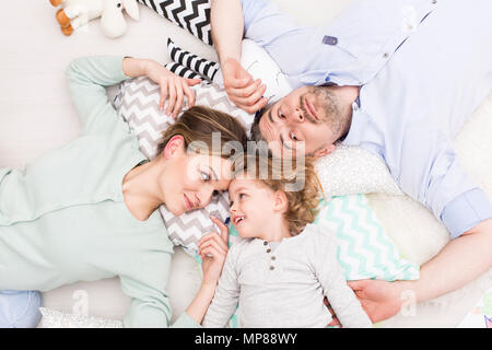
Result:
[[[233,245],[225,258],[215,295],[207,311],[202,325],[207,328],[223,328],[234,314],[239,299],[239,283],[235,270],[235,254],[238,244]]]

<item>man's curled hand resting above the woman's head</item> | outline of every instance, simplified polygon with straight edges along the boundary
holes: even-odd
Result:
[[[222,73],[227,96],[237,107],[254,114],[267,105],[268,98],[262,97],[267,85],[261,84],[259,79],[254,81],[237,60],[226,59]]]

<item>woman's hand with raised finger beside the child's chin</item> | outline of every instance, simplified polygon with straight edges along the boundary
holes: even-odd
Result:
[[[221,229],[221,234],[211,232],[202,236],[198,243],[198,254],[202,260],[203,284],[215,285],[229,250],[229,229],[219,219],[213,217],[210,217],[210,219]]]

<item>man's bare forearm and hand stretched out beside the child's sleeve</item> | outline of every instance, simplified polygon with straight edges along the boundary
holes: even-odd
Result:
[[[461,236],[450,241],[434,258],[421,267],[417,281],[354,281],[354,290],[373,322],[396,315],[402,296],[413,292],[422,302],[452,292],[471,282],[492,268],[492,219],[480,222]]]

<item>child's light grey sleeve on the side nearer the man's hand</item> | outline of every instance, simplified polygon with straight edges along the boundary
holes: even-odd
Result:
[[[333,233],[318,232],[316,271],[340,324],[345,328],[372,327],[371,319],[352,289],[347,284],[343,270],[337,260],[337,242]]]

